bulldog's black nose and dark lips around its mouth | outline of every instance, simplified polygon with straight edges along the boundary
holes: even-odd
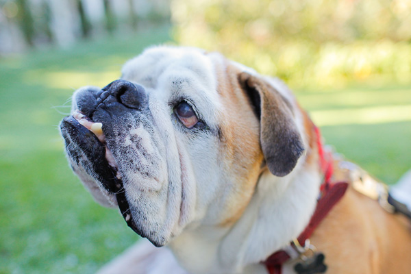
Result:
[[[105,138],[106,135],[115,134],[114,127],[128,126],[125,125],[127,121],[122,120],[125,114],[129,114],[130,111],[140,113],[147,110],[145,89],[131,82],[116,80],[101,90],[79,90],[75,95],[75,103],[77,110],[74,110],[73,115],[64,117],[60,123],[72,168],[74,171],[78,168],[84,169],[104,190],[115,195],[127,225],[141,235],[128,212],[129,204],[121,175]],[[95,121],[103,122],[104,135],[102,132],[100,135],[92,132]]]

